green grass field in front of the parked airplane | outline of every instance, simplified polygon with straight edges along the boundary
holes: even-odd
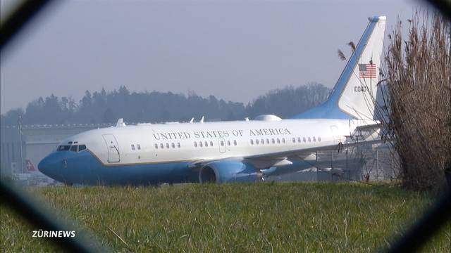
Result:
[[[115,252],[373,252],[390,245],[433,202],[432,193],[358,183],[30,191]],[[2,205],[0,211],[1,252],[58,250],[32,238],[35,228],[11,210]],[[450,252],[450,238],[448,223],[424,251]]]

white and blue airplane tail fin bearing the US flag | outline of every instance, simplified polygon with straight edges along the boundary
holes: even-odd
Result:
[[[362,38],[326,102],[295,119],[373,119],[382,61],[385,16],[369,18]]]

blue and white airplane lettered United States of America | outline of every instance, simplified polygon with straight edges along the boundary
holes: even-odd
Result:
[[[385,16],[369,18],[326,102],[280,119],[126,125],[63,140],[38,169],[68,185],[262,181],[319,165],[316,152],[378,136],[373,118]],[[360,138],[359,138],[360,137]]]

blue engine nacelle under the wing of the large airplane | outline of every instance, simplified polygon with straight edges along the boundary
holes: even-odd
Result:
[[[261,173],[252,164],[237,161],[209,162],[199,171],[200,183],[255,182]]]

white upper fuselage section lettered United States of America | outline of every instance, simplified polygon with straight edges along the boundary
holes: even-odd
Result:
[[[85,143],[104,165],[219,160],[334,145],[354,126],[346,119],[145,124],[87,131],[61,145]],[[116,138],[117,151],[107,148],[105,135]]]

